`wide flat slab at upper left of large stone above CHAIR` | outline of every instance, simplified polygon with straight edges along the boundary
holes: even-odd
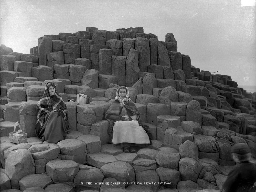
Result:
[[[87,155],[87,164],[97,168],[103,165],[117,161],[113,155],[104,153],[89,153]]]

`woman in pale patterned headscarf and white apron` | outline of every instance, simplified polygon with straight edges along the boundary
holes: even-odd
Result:
[[[112,143],[120,144],[124,152],[135,152],[133,146],[151,143],[150,130],[145,123],[138,123],[140,112],[131,101],[127,87],[118,88],[115,101],[106,111],[105,118],[110,121],[108,133]]]

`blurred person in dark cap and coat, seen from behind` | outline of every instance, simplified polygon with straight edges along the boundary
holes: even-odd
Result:
[[[256,165],[250,162],[251,152],[246,143],[237,143],[231,147],[232,158],[236,162],[223,183],[221,192],[255,192]]]

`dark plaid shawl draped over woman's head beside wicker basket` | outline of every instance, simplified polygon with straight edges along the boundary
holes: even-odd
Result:
[[[49,87],[53,86],[55,88],[55,94],[50,96]],[[54,83],[49,82],[45,87],[45,92],[41,99],[38,101],[37,106],[37,124],[40,124],[42,128],[44,126],[45,115],[51,111],[61,111],[64,113],[64,120],[67,120],[67,106],[64,103],[62,97],[57,93],[57,87]]]

